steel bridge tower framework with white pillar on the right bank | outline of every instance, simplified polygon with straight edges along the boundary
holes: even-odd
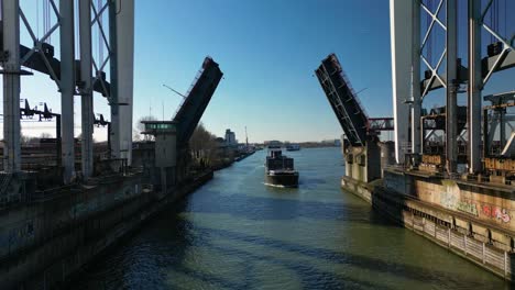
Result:
[[[460,124],[464,120],[458,107],[458,93],[467,93],[467,167],[471,175],[483,171],[485,147],[482,130],[482,90],[496,71],[515,66],[515,35],[503,35],[498,29],[501,0],[460,1],[468,9],[468,64],[459,57],[458,0],[391,0],[391,45],[393,103],[395,119],[395,154],[397,163],[405,156],[421,159],[425,127],[421,122],[421,104],[432,90],[445,90],[445,169],[454,175],[459,160]],[[421,15],[427,20],[421,27]],[[506,19],[504,21],[507,21]],[[431,60],[431,38],[440,31],[439,55]],[[490,35],[485,40],[482,34]],[[487,42],[489,41],[489,42]],[[424,69],[421,69],[424,68]],[[423,74],[424,71],[424,74]],[[409,115],[410,118],[406,118]],[[503,125],[504,126],[504,125]],[[409,144],[410,146],[403,146]],[[483,149],[482,149],[483,148]],[[410,153],[409,155],[407,155]]]

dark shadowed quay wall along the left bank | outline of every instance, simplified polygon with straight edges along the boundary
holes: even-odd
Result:
[[[144,187],[139,175],[117,177],[110,183],[11,209],[1,216],[0,228],[9,225],[18,234],[9,239],[0,236],[2,245],[9,241],[0,248],[1,288],[66,287],[86,265],[212,176],[212,170],[198,174],[164,198]]]

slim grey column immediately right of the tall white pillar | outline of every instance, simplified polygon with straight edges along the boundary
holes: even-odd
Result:
[[[421,153],[420,5],[412,4],[412,153]]]

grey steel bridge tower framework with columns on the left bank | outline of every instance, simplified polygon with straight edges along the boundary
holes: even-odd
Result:
[[[20,7],[20,0],[1,0],[0,63],[3,75],[3,169],[17,174],[21,168],[20,144],[20,79],[31,75],[24,68],[46,74],[61,92],[61,166],[63,181],[75,179],[74,98],[81,103],[81,176],[87,179],[94,170],[92,132],[95,124],[94,91],[107,98],[110,105],[110,157],[131,164],[132,99],[134,55],[134,1],[65,1],[45,0],[47,30],[41,37],[34,33],[31,21]],[[78,4],[75,4],[78,3]],[[77,13],[76,13],[77,12]],[[75,15],[78,15],[78,26]],[[107,15],[106,15],[107,14]],[[108,30],[101,19],[109,19]],[[98,27],[108,54],[95,60],[91,48],[91,30]],[[20,30],[29,33],[32,46],[20,43]],[[78,32],[78,35],[76,34]],[[48,42],[59,34],[59,56]],[[79,55],[75,55],[75,40],[79,42]],[[106,70],[110,78],[107,80]]]

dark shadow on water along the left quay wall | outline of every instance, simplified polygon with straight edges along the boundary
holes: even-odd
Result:
[[[178,214],[187,208],[188,200],[184,199],[145,221],[141,231],[84,268],[69,282],[70,289],[168,289],[161,269],[184,261],[188,249],[202,241],[195,235],[191,223]]]

